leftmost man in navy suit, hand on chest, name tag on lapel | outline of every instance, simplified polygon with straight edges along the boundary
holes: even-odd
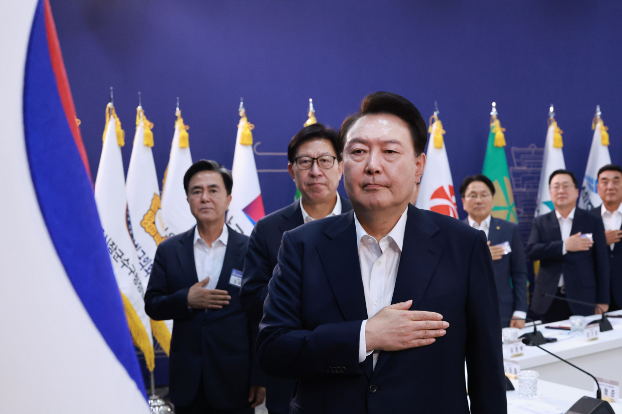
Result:
[[[200,160],[183,177],[197,225],[158,246],[145,293],[154,320],[174,320],[170,399],[177,414],[250,414],[266,389],[239,304],[248,237],[225,224],[231,172]]]

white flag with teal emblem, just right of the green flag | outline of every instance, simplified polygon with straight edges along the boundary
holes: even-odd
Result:
[[[555,209],[550,201],[549,177],[555,170],[565,170],[564,152],[562,152],[562,130],[557,122],[552,121],[546,134],[544,143],[544,157],[542,157],[542,170],[540,173],[540,185],[536,203],[536,217],[550,213]]]

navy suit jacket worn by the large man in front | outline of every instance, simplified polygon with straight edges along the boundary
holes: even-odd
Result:
[[[260,324],[261,368],[295,379],[290,413],[506,413],[499,305],[485,234],[408,206],[392,303],[450,323],[429,346],[358,362],[368,319],[353,212],[285,232]]]

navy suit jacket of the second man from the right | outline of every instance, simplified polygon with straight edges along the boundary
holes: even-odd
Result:
[[[594,244],[584,252],[562,254],[562,231],[555,211],[536,217],[531,226],[527,255],[540,260],[531,309],[542,315],[549,310],[559,276],[564,274],[566,297],[590,303],[609,303],[609,259],[603,221],[577,207],[570,235],[592,233]],[[557,300],[557,299],[556,299]],[[594,306],[569,302],[573,315],[593,315]]]

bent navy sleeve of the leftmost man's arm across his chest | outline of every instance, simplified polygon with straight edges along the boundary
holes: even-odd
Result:
[[[145,311],[154,321],[190,318],[188,290],[183,288],[169,295],[164,249],[158,247],[145,293]]]

